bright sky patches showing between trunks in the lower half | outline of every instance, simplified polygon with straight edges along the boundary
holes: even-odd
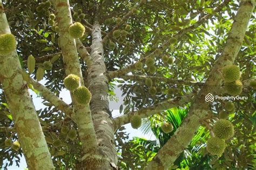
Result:
[[[39,81],[39,83],[44,84],[44,83],[46,83],[46,81],[45,81],[45,79],[43,79],[43,80]],[[33,103],[36,107],[36,110],[39,110],[40,108],[44,108],[45,105],[42,104],[43,99],[41,97],[37,97],[37,94],[35,92],[33,92],[32,90],[29,90],[29,92],[32,95]],[[118,99],[118,102],[110,101],[110,103],[109,103],[110,110],[113,110],[112,111],[113,118],[121,115],[119,113],[119,110],[117,110],[116,108],[120,107],[120,105],[123,103],[123,99],[124,99],[124,97],[122,97],[122,92],[119,87],[115,88],[114,93],[116,93],[116,98]],[[71,103],[70,92],[66,89],[63,89],[60,92],[59,98],[63,98],[63,101],[65,101],[65,103],[67,103],[67,104]],[[143,134],[139,129],[134,130],[131,127],[131,124],[127,124],[124,127],[125,127],[125,131],[130,133],[129,139],[132,139],[133,137],[140,137],[140,138],[145,138],[148,140],[156,140],[156,137],[154,137],[154,135],[152,135],[152,134]],[[17,167],[15,163],[14,163],[14,165],[8,167],[8,169],[10,169],[10,170],[19,170],[19,169],[25,169],[25,168],[26,168],[26,161],[25,161],[24,156],[21,158],[21,164],[19,167]]]

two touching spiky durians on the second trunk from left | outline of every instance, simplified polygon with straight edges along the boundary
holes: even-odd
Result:
[[[91,100],[91,92],[85,86],[80,85],[80,77],[75,74],[69,74],[64,79],[64,85],[66,89],[72,92],[73,96],[75,97],[76,101],[79,104],[89,104]]]

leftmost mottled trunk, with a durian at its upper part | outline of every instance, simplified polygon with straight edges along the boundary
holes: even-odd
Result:
[[[4,33],[11,31],[0,0],[0,34]],[[29,169],[54,169],[35,106],[19,73],[22,67],[16,50],[0,54],[0,68],[0,81]]]

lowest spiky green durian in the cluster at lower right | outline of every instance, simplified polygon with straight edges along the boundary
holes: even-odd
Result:
[[[212,137],[207,140],[207,151],[212,155],[222,155],[226,148],[226,143],[223,139]]]

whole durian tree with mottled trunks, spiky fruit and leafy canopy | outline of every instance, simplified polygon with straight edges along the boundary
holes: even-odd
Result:
[[[248,140],[238,152],[255,147],[254,7],[255,0],[0,0],[0,164],[18,165],[23,154],[29,169],[123,168],[123,125],[138,131],[156,116],[158,131],[170,135],[138,168],[174,168],[199,131],[216,160],[241,134]],[[131,100],[113,117],[102,97],[118,88]],[[44,108],[36,110],[29,89]],[[64,89],[70,104],[59,97]],[[248,98],[207,102],[208,93]],[[186,108],[178,125],[167,121],[171,108]]]

